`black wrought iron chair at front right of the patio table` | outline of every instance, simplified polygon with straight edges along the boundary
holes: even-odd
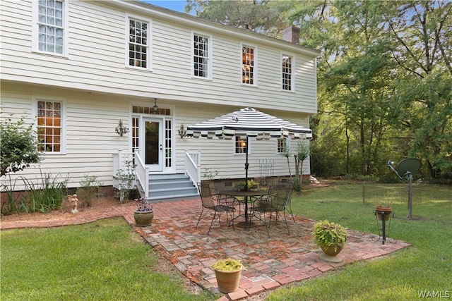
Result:
[[[254,214],[258,213],[258,219],[263,221],[266,226],[267,235],[270,237],[268,228],[271,225],[271,216],[275,214],[275,225],[278,224],[278,216],[283,219],[287,227],[287,233],[290,235],[289,225],[285,217],[286,208],[290,202],[290,188],[287,185],[272,185],[268,190],[268,195],[256,200],[254,206]],[[268,222],[266,221],[266,214],[268,213]]]

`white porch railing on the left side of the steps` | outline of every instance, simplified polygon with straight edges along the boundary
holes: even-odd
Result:
[[[113,154],[113,187],[119,189],[119,182],[117,180],[117,173],[119,170],[126,168],[126,161],[131,161],[135,165],[136,180],[133,181],[132,186],[137,186],[138,191],[142,197],[148,197],[149,194],[149,171],[143,163],[143,159],[136,152],[122,152],[118,150],[117,154]]]

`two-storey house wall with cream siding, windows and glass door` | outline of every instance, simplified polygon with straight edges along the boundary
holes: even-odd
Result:
[[[203,179],[243,178],[241,137],[181,128],[243,107],[305,127],[316,113],[314,49],[140,1],[6,0],[1,11],[1,115],[35,124],[42,151],[40,164],[1,179],[15,190],[42,173],[67,176],[69,188],[86,175],[112,186],[132,153],[149,181],[186,174],[190,156]],[[249,176],[264,160],[287,176],[285,143],[251,140]]]

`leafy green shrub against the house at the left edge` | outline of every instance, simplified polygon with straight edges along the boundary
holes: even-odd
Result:
[[[22,118],[13,121],[12,115],[0,121],[1,174],[16,173],[30,164],[41,161],[37,152],[37,140],[32,125],[25,126]]]

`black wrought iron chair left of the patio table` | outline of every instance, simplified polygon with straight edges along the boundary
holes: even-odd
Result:
[[[226,219],[227,219],[227,225],[230,226],[230,219],[229,214],[231,214],[232,219],[234,219],[234,212],[235,208],[232,206],[229,206],[227,204],[220,204],[218,202],[217,195],[215,193],[215,189],[210,187],[209,183],[201,183],[201,185],[198,187],[199,196],[201,197],[201,203],[203,205],[203,209],[201,211],[201,214],[199,215],[198,223],[196,223],[196,228],[198,228],[199,221],[206,216],[210,210],[214,212],[212,221],[210,222],[209,230],[207,231],[207,234],[210,233],[210,228],[212,228],[213,223],[215,220],[218,219],[220,226],[221,226],[221,214],[222,212],[226,212]],[[206,212],[204,212],[206,211]],[[232,220],[231,219],[231,220]],[[234,229],[234,224],[232,223],[232,229]]]

